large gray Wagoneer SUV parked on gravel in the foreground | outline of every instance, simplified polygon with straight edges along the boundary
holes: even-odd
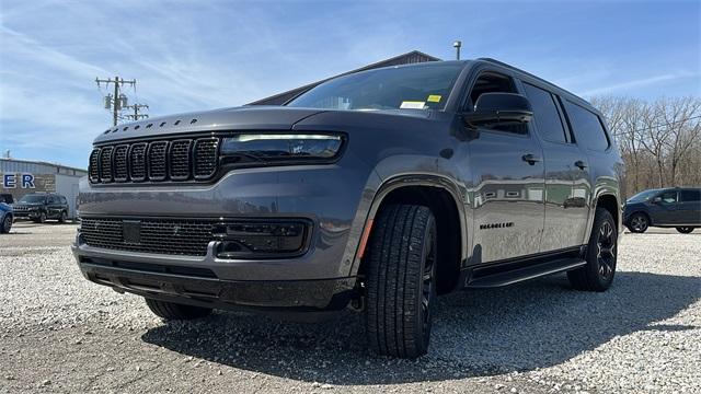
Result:
[[[104,131],[72,251],[163,318],[352,309],[374,350],[417,357],[438,294],[555,273],[608,289],[622,170],[601,114],[540,78],[390,67]]]

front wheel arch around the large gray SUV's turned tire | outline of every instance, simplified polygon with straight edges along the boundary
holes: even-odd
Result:
[[[390,204],[417,204],[430,208],[438,232],[438,293],[459,288],[459,271],[467,259],[467,218],[460,189],[439,175],[402,175],[386,181],[375,195],[363,230],[367,241],[372,221]],[[360,242],[354,262],[354,274],[363,274],[361,256],[367,247]]]

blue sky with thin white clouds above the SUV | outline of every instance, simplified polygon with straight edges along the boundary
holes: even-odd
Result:
[[[701,95],[701,5],[658,2],[0,0],[0,150],[84,167],[95,77],[152,116],[241,105],[418,49],[494,57],[579,95]]]

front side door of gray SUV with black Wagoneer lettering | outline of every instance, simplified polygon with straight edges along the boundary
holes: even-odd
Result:
[[[510,77],[482,73],[470,104],[487,92],[516,93]],[[543,152],[525,125],[471,131],[474,264],[536,254],[543,230]]]

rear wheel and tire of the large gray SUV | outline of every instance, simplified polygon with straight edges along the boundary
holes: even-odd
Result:
[[[570,283],[576,290],[606,291],[616,276],[618,230],[609,211],[597,208],[586,262],[581,268],[567,273]]]

